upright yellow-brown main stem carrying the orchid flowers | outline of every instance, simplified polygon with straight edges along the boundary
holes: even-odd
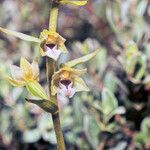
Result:
[[[57,26],[57,16],[58,16],[58,6],[55,3],[51,3],[50,19],[49,19],[49,30],[56,31]],[[58,106],[56,96],[51,95],[51,80],[55,72],[55,60],[47,57],[46,58],[46,73],[47,82],[49,88],[49,96],[52,101]],[[56,114],[52,114],[54,130],[57,139],[57,149],[65,150],[64,137],[60,125],[59,111]]]

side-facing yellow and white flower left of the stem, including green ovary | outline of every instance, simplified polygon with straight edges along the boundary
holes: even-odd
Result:
[[[27,90],[32,95],[47,99],[47,95],[41,85],[38,83],[39,80],[39,67],[36,61],[30,64],[25,58],[21,58],[20,67],[12,65],[10,67],[11,77],[6,79],[16,87],[26,86]]]

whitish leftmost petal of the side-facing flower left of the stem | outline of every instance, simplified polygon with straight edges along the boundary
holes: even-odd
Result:
[[[22,80],[23,79],[22,70],[15,65],[10,66],[10,73],[11,73],[12,78],[15,80]]]

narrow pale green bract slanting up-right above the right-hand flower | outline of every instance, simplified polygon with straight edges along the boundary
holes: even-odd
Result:
[[[92,53],[90,53],[90,54],[88,54],[88,55],[85,55],[83,57],[80,57],[80,58],[68,61],[64,65],[68,66],[68,67],[74,67],[74,66],[76,66],[78,64],[84,63],[84,62],[92,59],[94,56],[96,56],[98,54],[98,52],[99,52],[99,49],[94,51],[94,52],[92,52]]]

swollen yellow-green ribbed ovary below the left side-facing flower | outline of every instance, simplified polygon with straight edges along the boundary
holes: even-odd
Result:
[[[45,93],[44,89],[38,82],[36,81],[29,82],[26,85],[26,88],[32,95],[39,97],[41,99],[48,99],[47,94]]]

